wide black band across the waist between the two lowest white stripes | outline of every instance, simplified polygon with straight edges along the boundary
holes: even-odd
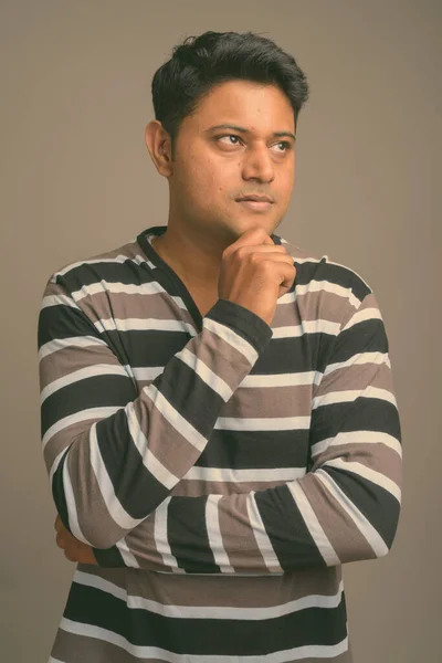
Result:
[[[234,604],[234,596],[231,600]],[[267,620],[179,619],[128,609],[124,600],[74,581],[64,617],[110,630],[138,646],[182,655],[264,656],[297,646],[333,646],[347,635],[344,592],[337,608],[306,608]]]

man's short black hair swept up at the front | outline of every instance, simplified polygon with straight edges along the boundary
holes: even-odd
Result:
[[[171,59],[154,74],[155,118],[175,143],[183,118],[215,85],[232,80],[277,85],[294,112],[295,127],[308,98],[308,84],[295,59],[272,40],[254,32],[212,32],[187,36]]]

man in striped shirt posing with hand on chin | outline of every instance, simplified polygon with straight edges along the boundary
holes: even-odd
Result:
[[[348,663],[341,565],[391,548],[400,422],[371,288],[274,233],[305,76],[209,32],[152,93],[168,225],[55,272],[40,314],[56,541],[78,562],[51,661]]]

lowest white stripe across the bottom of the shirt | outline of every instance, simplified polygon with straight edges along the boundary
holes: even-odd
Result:
[[[101,627],[92,627],[91,624],[84,624],[75,622],[65,617],[62,618],[60,628],[67,633],[83,635],[85,638],[95,638],[104,642],[110,642],[112,644],[119,646],[136,659],[159,659],[167,661],[167,663],[182,663],[183,656],[186,656],[192,663],[293,663],[294,661],[303,661],[307,657],[322,657],[333,659],[339,654],[348,651],[348,636],[341,642],[334,645],[305,645],[297,646],[291,650],[284,650],[274,652],[272,654],[259,654],[256,656],[228,656],[225,654],[210,656],[208,654],[176,654],[165,649],[157,646],[140,646],[131,644],[126,638],[102,629]],[[264,656],[264,659],[263,659]]]

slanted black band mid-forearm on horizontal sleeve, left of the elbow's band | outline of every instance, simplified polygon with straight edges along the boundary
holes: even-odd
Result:
[[[255,502],[284,571],[326,566],[287,486],[260,491]]]

